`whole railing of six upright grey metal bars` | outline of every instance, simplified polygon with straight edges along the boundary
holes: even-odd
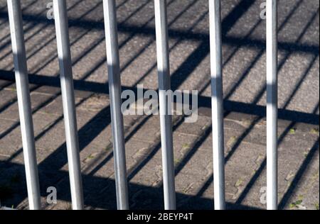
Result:
[[[215,209],[225,209],[225,161],[223,133],[223,72],[220,0],[208,0],[210,13],[210,67],[213,123],[213,174]],[[26,49],[20,0],[7,0],[11,29],[12,51],[16,76],[16,91],[21,121],[23,156],[30,209],[41,209],[41,196],[33,134],[30,90],[26,65]],[[159,76],[159,108],[161,149],[164,179],[164,208],[176,209],[174,181],[174,149],[172,118],[166,115],[169,102],[166,91],[171,89],[169,69],[169,40],[166,0],[154,0],[156,19],[156,48]],[[129,209],[127,169],[124,149],[124,127],[121,111],[121,82],[117,16],[115,0],[103,0],[107,70],[109,75],[114,172],[117,208]],[[65,138],[73,209],[83,209],[78,128],[75,114],[75,94],[70,57],[68,16],[65,0],[53,0],[55,30],[63,98]],[[267,0],[267,209],[277,209],[277,0]],[[161,113],[162,111],[162,113]]]

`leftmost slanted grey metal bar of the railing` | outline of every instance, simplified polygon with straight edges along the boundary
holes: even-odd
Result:
[[[20,0],[8,0],[9,23],[16,75],[16,92],[21,125],[23,157],[26,169],[28,201],[31,210],[41,209],[36,146],[31,113],[26,48],[24,45]]]

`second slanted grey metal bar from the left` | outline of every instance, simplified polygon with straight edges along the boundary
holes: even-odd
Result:
[[[75,114],[75,94],[73,90],[73,71],[68,32],[68,15],[65,0],[53,0],[55,32],[57,36],[60,66],[63,117],[65,121],[65,140],[67,142],[68,167],[71,198],[74,210],[84,208],[78,128]]]

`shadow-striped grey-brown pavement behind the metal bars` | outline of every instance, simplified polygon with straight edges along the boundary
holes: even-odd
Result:
[[[42,204],[71,209],[50,1],[22,1]],[[265,209],[265,21],[261,1],[223,0],[228,209]],[[174,116],[177,207],[213,208],[208,1],[168,0],[172,89],[199,91],[199,116]],[[87,209],[115,209],[102,1],[68,0]],[[123,89],[157,89],[154,4],[117,1]],[[0,206],[27,209],[6,1],[0,0]],[[319,209],[319,1],[279,1],[279,208]],[[162,209],[158,116],[124,116],[130,208]],[[214,130],[213,130],[214,131]],[[58,203],[48,204],[55,186]]]

